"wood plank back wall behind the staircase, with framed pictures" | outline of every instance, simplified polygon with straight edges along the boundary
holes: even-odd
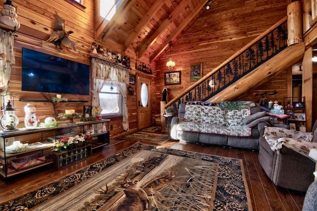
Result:
[[[159,113],[160,91],[166,87],[171,98],[192,85],[189,80],[191,64],[203,63],[203,75],[236,53],[247,43],[286,16],[285,0],[230,0],[212,1],[211,9],[206,10],[183,36],[173,44],[171,57],[176,66],[173,71],[181,70],[181,84],[164,86],[164,73],[169,70],[166,53],[157,62],[157,113]],[[281,73],[255,90],[246,93],[237,100],[258,102],[258,92],[278,90],[273,100],[282,100],[286,96],[286,72]],[[172,89],[170,89],[172,88]],[[270,100],[270,97],[268,97]]]

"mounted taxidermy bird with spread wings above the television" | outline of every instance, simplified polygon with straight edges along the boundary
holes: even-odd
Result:
[[[68,37],[72,33],[73,31],[65,30],[65,21],[59,15],[54,14],[53,32],[45,43],[53,42],[56,47],[59,46],[61,49],[65,47],[76,51],[75,42]]]

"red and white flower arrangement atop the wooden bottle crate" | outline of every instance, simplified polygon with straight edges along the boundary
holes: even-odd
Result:
[[[67,150],[67,148],[74,149],[78,145],[87,145],[89,143],[90,135],[83,133],[76,136],[63,137],[60,140],[56,140],[53,145],[53,150],[58,151],[59,149]]]

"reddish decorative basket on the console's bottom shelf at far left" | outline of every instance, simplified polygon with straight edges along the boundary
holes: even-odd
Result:
[[[11,165],[13,168],[20,170],[39,165],[43,162],[45,162],[45,156],[42,154],[36,154],[25,158],[12,159]]]

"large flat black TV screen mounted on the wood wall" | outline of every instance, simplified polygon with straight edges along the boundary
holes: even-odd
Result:
[[[22,91],[89,95],[89,65],[22,48]]]

